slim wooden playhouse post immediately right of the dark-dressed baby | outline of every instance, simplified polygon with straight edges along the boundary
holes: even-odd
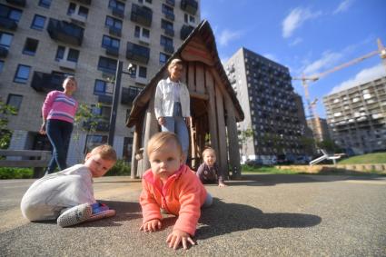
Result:
[[[219,138],[219,152],[217,158],[219,159],[219,166],[222,169],[226,177],[228,177],[228,151],[226,147],[226,133],[225,133],[225,117],[223,110],[223,93],[219,89],[221,84],[216,84],[214,89],[216,93],[216,106],[217,106],[217,127]]]

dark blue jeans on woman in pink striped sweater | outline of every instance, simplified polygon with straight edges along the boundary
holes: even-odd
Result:
[[[67,158],[68,146],[70,144],[73,124],[61,120],[47,120],[45,132],[50,140],[54,153],[48,164],[47,173],[54,173],[57,166],[62,171],[67,168],[65,159]]]

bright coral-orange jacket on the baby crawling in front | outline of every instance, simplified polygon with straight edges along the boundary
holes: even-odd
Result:
[[[182,165],[163,186],[159,179],[154,179],[152,170],[148,170],[144,173],[142,185],[140,203],[143,222],[162,220],[160,208],[163,208],[167,213],[178,215],[173,230],[194,235],[206,190],[188,166]]]

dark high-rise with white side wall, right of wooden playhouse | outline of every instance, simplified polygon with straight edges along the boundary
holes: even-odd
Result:
[[[224,67],[245,114],[238,129],[253,132],[242,145],[242,159],[270,163],[278,155],[304,155],[304,110],[288,68],[243,47]]]

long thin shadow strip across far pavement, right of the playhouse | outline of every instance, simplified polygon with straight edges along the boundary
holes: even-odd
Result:
[[[377,180],[382,179],[379,175],[317,175],[317,174],[243,174],[242,180],[227,181],[231,186],[249,185],[249,186],[267,186],[278,183],[320,183],[320,182],[335,182],[346,180]]]

